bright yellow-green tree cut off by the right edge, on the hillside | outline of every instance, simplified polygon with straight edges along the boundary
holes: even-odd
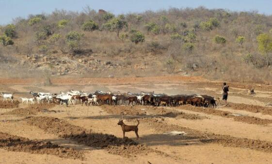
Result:
[[[272,51],[272,37],[270,34],[263,33],[257,36],[258,49],[261,53],[268,53]]]

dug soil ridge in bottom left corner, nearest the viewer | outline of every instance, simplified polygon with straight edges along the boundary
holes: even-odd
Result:
[[[61,158],[84,159],[81,151],[72,148],[64,148],[51,142],[30,140],[2,132],[0,132],[0,148],[8,151],[56,155]]]

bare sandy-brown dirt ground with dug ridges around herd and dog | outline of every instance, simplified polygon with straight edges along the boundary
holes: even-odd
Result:
[[[0,79],[0,91],[15,99],[29,91],[69,89],[120,92],[208,94],[220,97],[221,82],[201,77]],[[272,86],[229,83],[229,105],[86,106],[81,104],[2,103],[0,163],[58,164],[270,164],[272,162]],[[254,88],[256,94],[248,95]],[[136,125],[139,135],[123,139],[119,119]]]

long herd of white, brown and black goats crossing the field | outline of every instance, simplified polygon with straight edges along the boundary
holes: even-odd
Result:
[[[3,101],[11,99],[13,102],[13,93],[0,93],[3,97]],[[60,94],[32,92],[32,98],[20,97],[22,103],[34,104],[36,101],[40,103],[55,103],[55,104],[78,104],[84,103],[86,105],[100,105],[100,104],[112,104],[112,105],[153,105],[153,106],[178,106],[182,104],[192,104],[195,106],[204,107],[216,107],[217,100],[214,97],[208,95],[174,95],[168,96],[166,94],[154,94],[153,92],[141,92],[137,93],[111,93],[97,90],[94,93],[85,93],[78,90],[69,90],[68,92],[61,91]]]

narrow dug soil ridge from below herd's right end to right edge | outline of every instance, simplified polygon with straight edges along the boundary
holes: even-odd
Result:
[[[178,107],[178,109],[201,112],[201,113],[206,113],[209,115],[221,116],[224,118],[233,118],[235,121],[249,123],[249,124],[266,125],[266,124],[272,123],[272,119],[260,119],[256,117],[250,117],[250,116],[235,116],[231,112],[217,110],[214,108],[197,107],[197,106],[192,106],[188,104],[181,105]]]

